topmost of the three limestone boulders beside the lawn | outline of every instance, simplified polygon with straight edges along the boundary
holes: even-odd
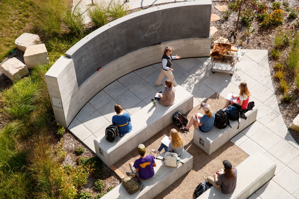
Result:
[[[30,34],[30,33],[23,33],[19,36],[16,41],[16,47],[25,52],[28,46],[41,44],[40,38],[38,35]]]

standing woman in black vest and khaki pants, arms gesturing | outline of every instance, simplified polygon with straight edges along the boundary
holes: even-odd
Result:
[[[174,80],[174,76],[172,74],[172,60],[173,59],[180,59],[181,56],[171,56],[173,49],[170,46],[167,46],[164,49],[164,54],[162,56],[162,70],[160,75],[158,76],[157,81],[155,82],[155,86],[163,86],[161,81],[163,80],[164,76],[167,76],[168,79],[172,82],[174,86],[177,86],[176,80]]]

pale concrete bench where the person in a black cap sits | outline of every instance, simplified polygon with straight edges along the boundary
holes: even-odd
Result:
[[[263,186],[274,176],[276,164],[260,152],[246,158],[236,166],[237,186],[233,193],[223,194],[216,187],[212,186],[198,198],[219,198],[219,199],[245,199]]]

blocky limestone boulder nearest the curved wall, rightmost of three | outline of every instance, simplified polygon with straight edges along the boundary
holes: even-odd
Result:
[[[48,52],[45,44],[28,46],[24,53],[24,61],[27,68],[34,68],[37,64],[49,63]]]

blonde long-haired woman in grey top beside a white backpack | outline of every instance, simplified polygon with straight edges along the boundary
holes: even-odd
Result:
[[[178,154],[180,156],[183,153],[184,149],[184,140],[179,135],[179,132],[173,128],[170,130],[170,144],[166,146],[165,144],[161,143],[159,149],[152,149],[152,153],[160,154],[162,149],[164,148],[165,151],[172,152]]]

